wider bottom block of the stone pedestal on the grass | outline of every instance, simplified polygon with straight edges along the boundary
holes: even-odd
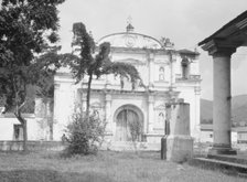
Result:
[[[190,136],[169,136],[167,138],[167,160],[184,162],[193,156],[193,138]]]

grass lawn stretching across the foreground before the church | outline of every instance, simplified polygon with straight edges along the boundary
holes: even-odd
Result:
[[[159,152],[100,151],[64,159],[58,152],[0,152],[0,182],[244,182],[246,179],[160,160]]]

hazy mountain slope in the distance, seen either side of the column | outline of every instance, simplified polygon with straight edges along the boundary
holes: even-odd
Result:
[[[239,124],[247,122],[247,95],[234,96],[232,98],[233,121]],[[213,101],[201,99],[201,122],[207,122],[213,118]]]

